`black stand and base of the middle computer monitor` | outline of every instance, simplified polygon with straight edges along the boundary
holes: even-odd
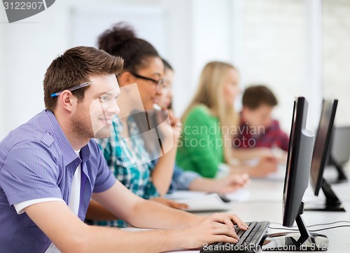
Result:
[[[337,198],[330,184],[325,179],[322,179],[322,191],[325,194],[325,202],[312,206],[307,204],[305,211],[346,212],[342,202]]]

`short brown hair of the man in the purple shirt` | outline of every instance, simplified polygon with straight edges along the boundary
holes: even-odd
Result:
[[[53,60],[46,70],[43,81],[46,109],[55,109],[57,97],[51,97],[52,93],[85,83],[89,81],[90,74],[119,74],[122,69],[123,59],[109,55],[104,50],[87,46],[66,50],[63,55]],[[84,92],[88,87],[72,91],[78,102],[83,101]]]

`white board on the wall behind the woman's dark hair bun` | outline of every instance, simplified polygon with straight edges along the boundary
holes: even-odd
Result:
[[[117,22],[127,22],[137,36],[149,41],[160,54],[166,52],[165,13],[159,5],[77,6],[71,14],[72,46],[97,47],[97,38],[102,32]]]

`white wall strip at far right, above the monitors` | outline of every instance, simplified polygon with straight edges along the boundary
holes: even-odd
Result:
[[[338,98],[337,125],[350,125],[350,1],[323,0],[323,94]]]

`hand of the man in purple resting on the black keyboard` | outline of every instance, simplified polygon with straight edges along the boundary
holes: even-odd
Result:
[[[204,243],[230,242],[236,243],[239,238],[235,232],[234,224],[246,230],[248,226],[235,214],[212,214],[204,217],[202,222],[193,228],[184,229],[183,245],[185,248],[202,247]]]

